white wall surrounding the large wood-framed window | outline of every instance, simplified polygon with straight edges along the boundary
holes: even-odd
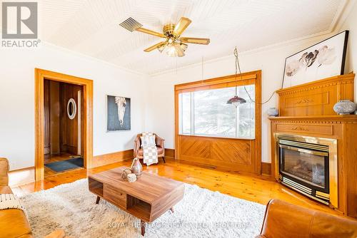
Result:
[[[356,9],[356,8],[355,8]],[[354,10],[356,12],[356,10]],[[348,24],[351,28],[356,29],[356,14],[348,19]],[[353,24],[355,23],[355,24]],[[340,30],[340,29],[339,29]],[[349,42],[356,41],[356,30],[351,33]],[[304,39],[301,41],[287,42],[283,46],[275,46],[266,49],[241,53],[240,63],[241,71],[262,71],[262,98],[267,100],[274,90],[281,87],[283,77],[283,67],[285,58],[293,53],[301,51],[303,48],[311,46],[313,43],[322,41],[334,33],[329,33],[323,36]],[[206,47],[206,46],[203,46]],[[354,48],[353,48],[354,47]],[[353,51],[353,56],[350,53],[348,63],[348,72],[356,68],[356,42],[350,44],[348,51]],[[189,51],[189,47],[188,47]],[[232,48],[233,53],[233,48]],[[354,61],[353,61],[354,59]],[[213,61],[208,61],[203,64],[204,79],[215,78],[219,76],[231,75],[235,72],[234,56],[219,58]],[[177,71],[156,74],[151,76],[149,85],[150,96],[148,98],[146,110],[146,129],[153,130],[162,137],[166,138],[166,147],[174,148],[174,85],[178,83],[186,83],[191,81],[199,81],[201,76],[201,64],[178,68]],[[270,162],[270,121],[266,111],[268,108],[278,107],[277,96],[274,95],[271,101],[264,104],[262,107],[262,161]]]

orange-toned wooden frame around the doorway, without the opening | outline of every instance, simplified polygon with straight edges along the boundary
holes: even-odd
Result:
[[[84,167],[93,167],[93,81],[35,68],[35,180],[44,179],[44,80],[83,86]]]

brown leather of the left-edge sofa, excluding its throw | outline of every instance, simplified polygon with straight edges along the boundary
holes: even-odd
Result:
[[[0,157],[0,193],[13,193],[9,187],[9,161]],[[31,227],[21,209],[0,210],[0,238],[32,237]],[[45,238],[65,238],[64,230],[58,229]]]

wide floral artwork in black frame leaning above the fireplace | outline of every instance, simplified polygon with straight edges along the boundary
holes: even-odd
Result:
[[[283,88],[343,74],[348,31],[331,36],[285,60]]]

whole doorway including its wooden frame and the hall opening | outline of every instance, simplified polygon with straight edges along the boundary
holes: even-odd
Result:
[[[35,69],[35,180],[93,167],[93,81]]]

